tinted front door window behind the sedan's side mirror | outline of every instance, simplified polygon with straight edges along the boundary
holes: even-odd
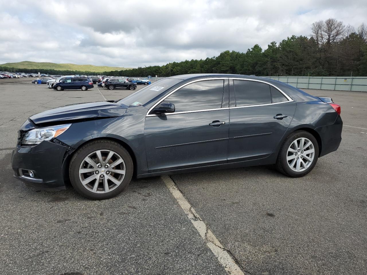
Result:
[[[219,109],[223,91],[224,80],[204,80],[182,87],[164,102],[175,104],[176,112]]]

